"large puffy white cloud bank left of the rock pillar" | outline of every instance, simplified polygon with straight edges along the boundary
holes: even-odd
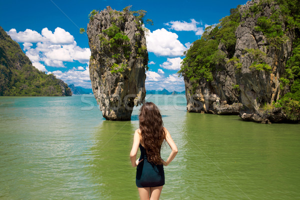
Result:
[[[7,32],[12,39],[23,43],[23,50],[36,68],[47,71],[45,66],[65,67],[64,62],[87,63],[89,48],[77,46],[74,37],[64,29],[57,27],[54,32],[43,28],[41,34],[26,29],[17,32],[14,28]],[[32,43],[36,43],[35,47]]]

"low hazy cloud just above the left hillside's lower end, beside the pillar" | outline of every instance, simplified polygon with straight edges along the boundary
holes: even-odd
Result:
[[[91,88],[91,83],[89,78],[89,67],[86,66],[85,70],[78,70],[78,69],[69,69],[65,72],[62,72],[60,70],[55,70],[52,72],[48,72],[47,74],[52,73],[56,76],[56,78],[62,79],[67,84],[74,84],[75,86]]]

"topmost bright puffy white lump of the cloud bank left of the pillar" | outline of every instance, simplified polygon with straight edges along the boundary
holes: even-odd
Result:
[[[48,28],[43,28],[41,34],[53,44],[70,44],[74,42],[73,35],[60,27],[55,28],[53,33]]]

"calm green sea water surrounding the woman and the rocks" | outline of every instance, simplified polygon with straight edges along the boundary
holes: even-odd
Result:
[[[300,124],[188,113],[184,95],[146,98],[179,150],[160,199],[300,199]],[[0,199],[138,199],[138,107],[131,119],[104,120],[93,95],[0,97]]]

